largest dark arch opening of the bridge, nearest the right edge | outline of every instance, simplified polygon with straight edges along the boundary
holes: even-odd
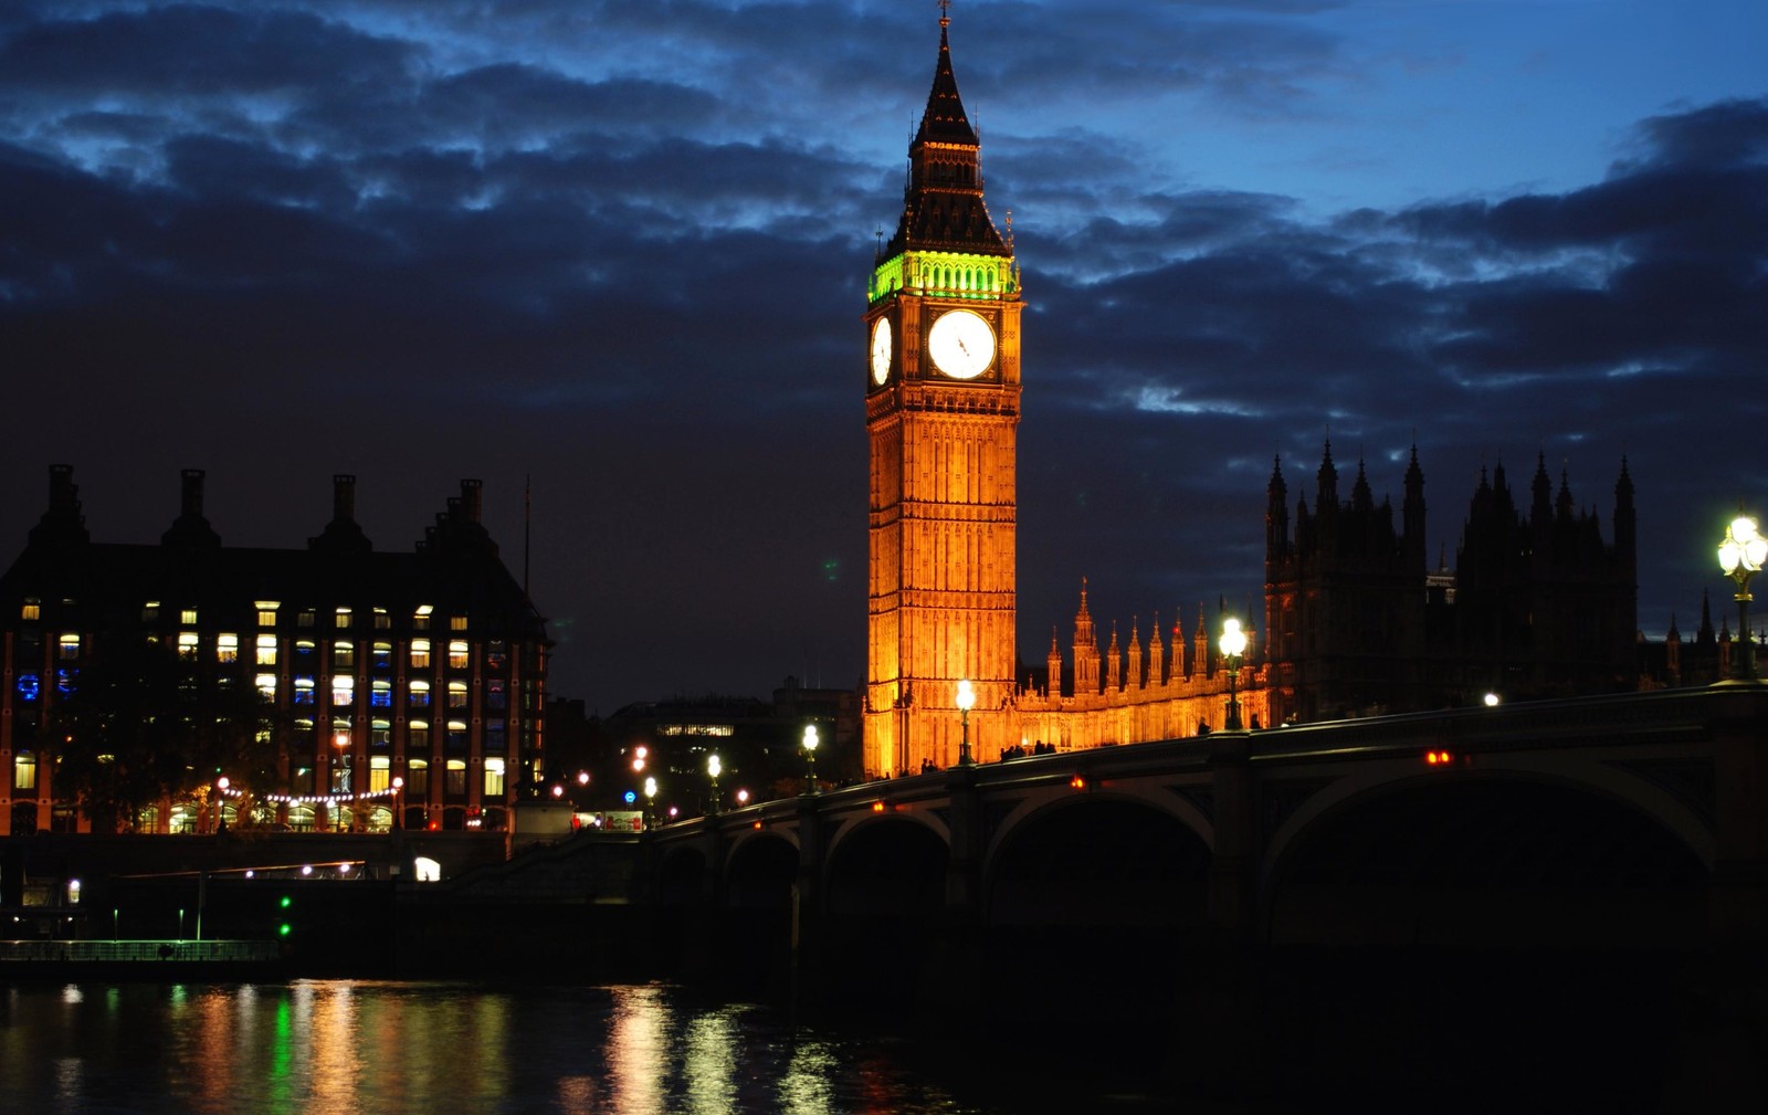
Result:
[[[1520,765],[1344,783],[1266,852],[1271,944],[1685,947],[1704,933],[1710,853],[1660,792],[1651,813],[1648,788]]]

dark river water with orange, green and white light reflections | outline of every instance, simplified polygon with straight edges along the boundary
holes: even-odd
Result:
[[[1001,1115],[898,1053],[665,986],[0,988],[7,1111]]]

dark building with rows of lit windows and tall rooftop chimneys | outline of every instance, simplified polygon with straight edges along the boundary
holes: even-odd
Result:
[[[124,829],[507,825],[541,770],[550,643],[479,521],[479,482],[410,553],[377,553],[354,502],[355,479],[334,477],[306,550],[225,548],[203,474],[186,470],[157,546],[108,544],[87,532],[72,470],[53,466],[50,509],[0,576],[0,834],[90,829],[57,788],[57,714],[129,643],[164,649],[180,691],[255,694],[256,721],[251,770],[226,788],[228,770],[198,772]]]

